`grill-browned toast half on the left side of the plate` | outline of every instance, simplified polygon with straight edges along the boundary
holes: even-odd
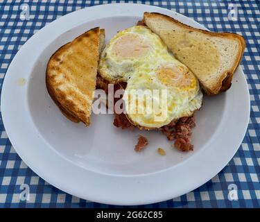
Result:
[[[105,31],[93,28],[55,51],[46,67],[46,87],[53,101],[68,119],[86,126],[104,40]]]

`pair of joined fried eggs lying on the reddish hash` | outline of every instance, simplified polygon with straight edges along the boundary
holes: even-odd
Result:
[[[141,128],[160,128],[202,105],[196,76],[146,26],[117,33],[101,54],[98,72],[110,83],[127,82],[125,114]]]

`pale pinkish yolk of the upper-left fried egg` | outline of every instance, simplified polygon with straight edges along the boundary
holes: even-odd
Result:
[[[122,35],[113,44],[112,52],[118,60],[141,58],[148,53],[149,46],[138,35]]]

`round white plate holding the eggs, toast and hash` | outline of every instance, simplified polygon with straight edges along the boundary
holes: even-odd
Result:
[[[101,26],[106,40],[141,19],[160,12],[205,28],[171,10],[138,4],[110,4],[65,15],[42,28],[19,50],[6,74],[1,95],[3,123],[22,160],[51,185],[99,203],[139,205],[185,194],[214,177],[236,153],[250,113],[248,86],[241,67],[231,89],[208,98],[196,112],[194,151],[171,147],[161,133],[121,130],[111,114],[92,116],[92,125],[67,120],[45,85],[46,63],[60,46]],[[26,84],[17,84],[25,78]],[[149,145],[135,153],[137,135]],[[163,147],[165,156],[157,153]]]

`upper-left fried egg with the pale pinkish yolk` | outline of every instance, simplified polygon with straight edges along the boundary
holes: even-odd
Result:
[[[110,83],[127,82],[138,67],[149,67],[159,53],[168,53],[162,40],[146,26],[132,26],[105,46],[98,73]]]

